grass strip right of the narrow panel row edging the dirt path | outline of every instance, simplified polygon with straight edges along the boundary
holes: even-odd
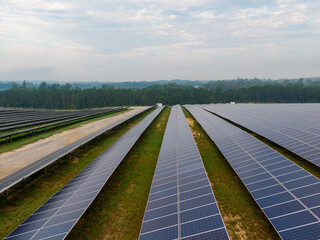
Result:
[[[0,199],[0,239],[14,230],[24,219],[39,208],[62,186],[93,159],[115,142],[121,135],[147,116],[143,113],[116,130],[107,132],[86,147],[79,148],[48,169],[48,174],[36,174],[10,190],[9,201]]]

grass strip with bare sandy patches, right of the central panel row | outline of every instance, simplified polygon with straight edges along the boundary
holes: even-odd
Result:
[[[280,239],[227,160],[183,109],[231,239]]]

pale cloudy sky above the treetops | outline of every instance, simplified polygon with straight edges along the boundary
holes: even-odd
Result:
[[[0,81],[319,76],[319,0],[0,0]]]

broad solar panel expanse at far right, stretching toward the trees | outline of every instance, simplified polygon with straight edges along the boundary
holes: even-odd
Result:
[[[211,104],[203,108],[320,167],[320,104]]]

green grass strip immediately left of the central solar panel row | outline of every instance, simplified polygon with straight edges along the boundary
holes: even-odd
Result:
[[[137,239],[170,108],[140,137],[67,239]]]

